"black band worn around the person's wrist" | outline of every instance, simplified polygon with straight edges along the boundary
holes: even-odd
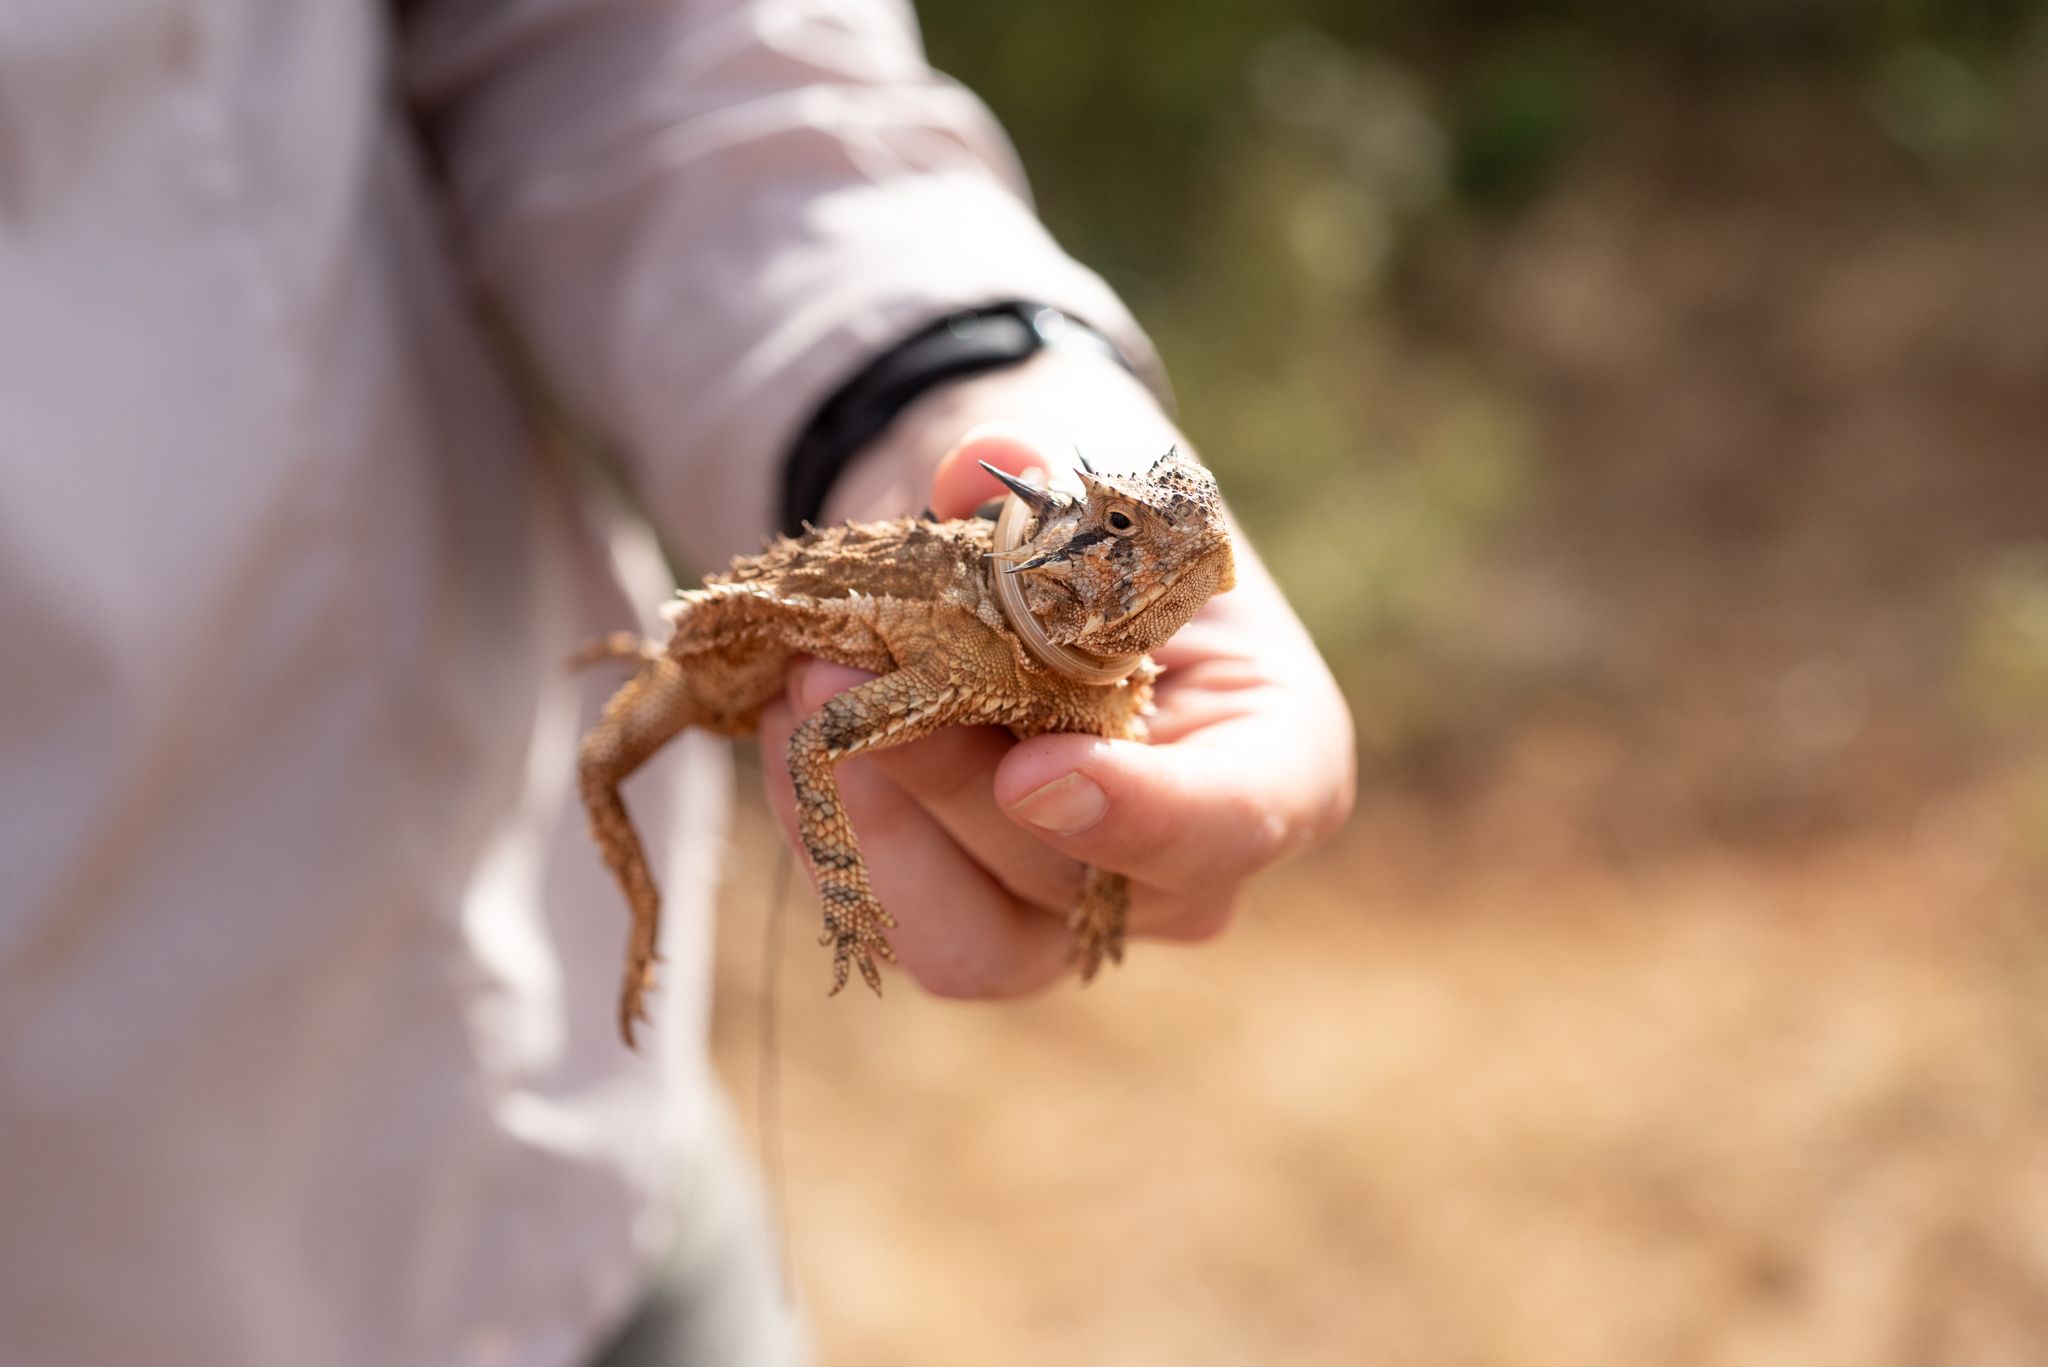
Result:
[[[1133,369],[1110,338],[1081,320],[1020,299],[948,314],[879,355],[817,408],[791,449],[782,467],[782,531],[797,535],[815,523],[854,453],[924,391],[1018,365],[1051,346],[1094,350]]]

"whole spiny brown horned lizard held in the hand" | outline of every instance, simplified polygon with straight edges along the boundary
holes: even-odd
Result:
[[[868,885],[834,764],[954,723],[1143,740],[1157,676],[1145,652],[1233,582],[1214,480],[1178,451],[1143,475],[1083,461],[1075,494],[989,471],[1012,490],[999,519],[807,529],[680,592],[664,609],[666,646],[621,633],[573,658],[635,666],[580,754],[592,836],[633,908],[618,1000],[629,1045],[647,1019],[662,902],[618,785],[688,726],[752,734],[795,656],[879,674],[829,699],[788,742],[799,842],[823,902],[819,943],[834,947],[831,992],[850,967],[881,992],[877,957],[895,957],[883,935],[895,920]],[[1122,959],[1126,914],[1124,877],[1090,869],[1069,916],[1083,980]]]

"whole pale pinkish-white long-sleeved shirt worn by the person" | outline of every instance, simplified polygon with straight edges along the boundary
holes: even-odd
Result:
[[[698,566],[950,307],[1147,355],[891,0],[0,0],[8,1367],[573,1363],[672,1238],[723,758],[629,787],[635,1058],[635,613],[471,277]]]

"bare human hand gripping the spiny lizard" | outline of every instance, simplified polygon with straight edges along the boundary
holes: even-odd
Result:
[[[1149,459],[1178,441],[1135,385],[1141,412],[1126,408],[1133,396],[1116,383],[1092,389],[1063,379],[1057,369],[1051,379],[1047,371],[1006,371],[979,383],[979,398],[954,387],[952,420],[991,410],[1042,416],[1038,400],[1051,385],[1055,396],[1065,389],[1065,426],[1083,434],[1090,451]],[[1112,414],[1094,416],[1104,404],[1075,408],[1081,396],[1104,400]],[[1126,441],[1143,432],[1147,445],[1085,437],[1104,430]],[[866,488],[901,484],[905,469],[918,469],[915,447],[895,455],[895,467],[870,463]],[[967,516],[1001,494],[979,461],[1024,473],[1067,465],[1071,455],[1022,430],[950,443],[936,469],[924,465],[934,512]],[[868,514],[897,512],[905,502],[901,490],[868,498],[897,502]],[[1251,873],[1343,822],[1354,787],[1343,699],[1243,537],[1235,549],[1237,588],[1210,598],[1155,652],[1165,674],[1151,744],[1096,736],[1016,742],[999,728],[952,728],[838,767],[874,892],[899,922],[891,943],[924,988],[1016,996],[1069,974],[1065,918],[1083,865],[1130,877],[1133,937],[1212,937],[1229,924]],[[786,701],[762,715],[766,752],[786,750],[797,721],[864,678],[870,674],[819,660],[799,664]],[[768,771],[770,801],[795,838],[788,775],[780,764]]]

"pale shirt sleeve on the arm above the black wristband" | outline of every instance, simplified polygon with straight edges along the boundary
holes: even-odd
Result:
[[[1157,375],[899,0],[426,0],[406,84],[487,289],[694,562],[754,549],[819,402],[950,309],[1044,301]]]

